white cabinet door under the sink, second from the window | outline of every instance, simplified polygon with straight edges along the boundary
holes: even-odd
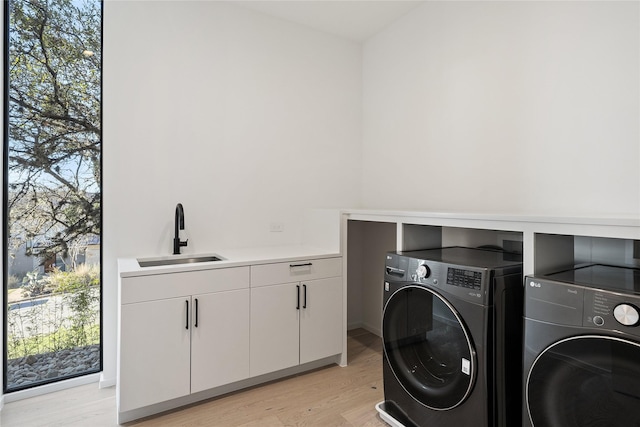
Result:
[[[191,392],[249,378],[249,289],[192,301]]]

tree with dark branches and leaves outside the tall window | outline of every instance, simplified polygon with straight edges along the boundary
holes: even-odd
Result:
[[[41,259],[100,234],[101,7],[9,2],[9,239]]]

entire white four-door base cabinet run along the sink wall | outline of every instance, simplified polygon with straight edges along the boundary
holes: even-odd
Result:
[[[120,265],[119,423],[344,357],[339,256]]]

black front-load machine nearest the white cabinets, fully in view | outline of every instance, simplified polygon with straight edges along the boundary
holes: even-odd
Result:
[[[385,400],[377,406],[385,421],[520,422],[521,261],[517,254],[463,247],[387,254]]]

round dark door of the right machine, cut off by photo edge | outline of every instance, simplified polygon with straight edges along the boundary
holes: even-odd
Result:
[[[601,335],[558,341],[529,370],[526,403],[536,427],[640,425],[640,345]]]

